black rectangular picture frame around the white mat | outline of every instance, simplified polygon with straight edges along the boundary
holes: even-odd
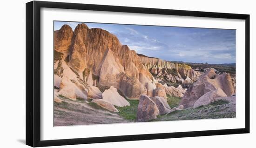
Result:
[[[148,13],[245,20],[245,128],[146,135],[40,140],[40,8]],[[249,133],[249,15],[31,1],[26,3],[26,144],[32,147]]]

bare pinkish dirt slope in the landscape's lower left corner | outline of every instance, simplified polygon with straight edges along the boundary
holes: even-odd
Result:
[[[61,103],[54,102],[54,126],[129,122],[92,102],[61,100]]]

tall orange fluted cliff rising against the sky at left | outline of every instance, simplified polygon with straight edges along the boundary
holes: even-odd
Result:
[[[153,94],[154,77],[139,56],[106,30],[82,23],[73,32],[64,25],[54,31],[54,51],[54,74],[61,78],[84,87],[114,86],[129,98]]]

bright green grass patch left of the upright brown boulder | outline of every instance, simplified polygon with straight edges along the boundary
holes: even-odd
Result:
[[[115,107],[118,109],[118,114],[126,120],[135,121],[137,117],[139,100],[127,100],[130,106]]]

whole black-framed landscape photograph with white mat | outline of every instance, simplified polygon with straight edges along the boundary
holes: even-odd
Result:
[[[31,1],[26,144],[249,133],[249,15]]]

